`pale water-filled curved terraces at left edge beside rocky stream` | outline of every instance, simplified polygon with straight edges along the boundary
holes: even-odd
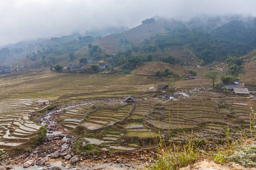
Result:
[[[40,125],[28,120],[38,109],[31,99],[0,100],[0,149],[19,146],[37,135]]]

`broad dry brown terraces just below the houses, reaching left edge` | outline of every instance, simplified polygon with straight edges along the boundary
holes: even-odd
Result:
[[[1,75],[0,99],[49,99],[52,104],[76,100],[142,96],[152,84],[126,74],[15,73]],[[148,85],[150,84],[150,85]],[[145,86],[146,85],[146,86]]]

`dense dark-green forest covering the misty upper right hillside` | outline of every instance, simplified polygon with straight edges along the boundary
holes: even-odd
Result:
[[[205,63],[224,60],[226,56],[243,56],[256,48],[256,20],[233,20],[209,32],[203,28],[189,28],[176,22],[167,28],[167,35],[156,36],[159,49],[186,44]]]

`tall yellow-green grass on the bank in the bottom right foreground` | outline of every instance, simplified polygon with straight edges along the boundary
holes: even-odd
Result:
[[[226,129],[226,145],[217,145],[210,142],[208,139],[205,139],[205,141],[199,141],[196,137],[193,137],[193,129],[191,130],[191,134],[189,133],[191,137],[188,138],[188,133],[186,133],[181,126],[179,126],[179,130],[184,133],[188,141],[185,143],[175,143],[171,141],[170,144],[167,145],[160,130],[160,121],[158,121],[159,137],[153,137],[158,145],[158,155],[155,160],[155,164],[151,169],[180,169],[181,167],[187,167],[189,164],[193,164],[204,159],[212,160],[219,164],[235,162],[245,167],[255,167],[256,141],[254,140],[255,134],[253,134],[253,128],[255,129],[254,118],[254,111],[251,108],[250,138],[248,138],[245,131],[241,129],[243,131],[243,135],[241,135],[242,138],[240,141],[230,141],[230,129],[228,125]],[[213,145],[214,147],[211,148],[209,145]]]

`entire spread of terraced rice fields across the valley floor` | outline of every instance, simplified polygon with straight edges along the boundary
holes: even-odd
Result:
[[[192,88],[210,84],[210,80],[203,78],[203,73],[208,69],[199,68],[197,71],[199,79],[191,80],[189,84],[187,80],[174,82],[174,86]],[[148,87],[166,82],[155,82],[134,74],[90,75],[28,71],[26,74],[0,75],[0,78],[0,148],[18,146],[36,136],[40,126],[30,122],[28,114],[42,109],[36,105],[38,99],[49,99],[51,105],[105,100],[105,108],[92,112],[90,105],[83,105],[60,117],[65,128],[74,129],[77,125],[83,125],[89,130],[108,128],[115,122],[122,121],[133,107],[130,104],[115,109],[113,105],[109,107],[108,99],[120,99],[119,104],[129,95],[140,99],[130,114],[130,122],[122,124],[125,133],[105,133],[102,138],[97,139],[102,142],[102,150],[118,149],[114,143],[123,137],[156,136],[159,126],[165,132],[175,131],[171,139],[177,141],[190,136],[177,133],[181,128],[193,129],[198,138],[204,139],[210,134],[220,138],[228,125],[234,129],[248,127],[250,106],[256,108],[255,101],[241,96],[225,96],[221,92],[204,92],[187,99],[162,103],[157,99],[144,100],[152,96]],[[222,104],[225,107],[219,107]],[[237,130],[233,133],[240,132]],[[127,150],[134,147],[128,147]]]

